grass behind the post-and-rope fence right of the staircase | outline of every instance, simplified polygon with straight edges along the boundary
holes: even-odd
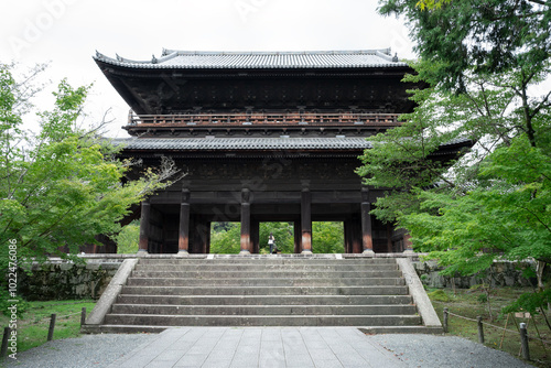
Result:
[[[443,310],[447,307],[451,313],[458,314],[472,320],[477,316],[483,317],[483,322],[507,329],[518,331],[521,322],[528,324],[528,335],[538,337],[537,329],[544,340],[551,340],[551,331],[547,326],[541,315],[534,315],[532,318],[512,317],[511,315],[501,315],[501,309],[515,301],[520,294],[531,292],[531,289],[521,288],[496,288],[491,290],[489,305],[494,318],[489,317],[488,302],[485,300],[486,293],[479,289],[464,290],[457,289],[455,293],[452,290],[430,290],[429,297],[432,301],[434,310],[443,321]],[[445,296],[443,296],[444,294]],[[484,295],[484,296],[483,296]],[[447,301],[445,301],[447,297]],[[443,301],[444,300],[444,301]],[[508,320],[507,320],[508,318]],[[536,323],[536,325],[534,325]],[[449,317],[449,334],[471,339],[478,343],[478,328],[476,322],[460,318],[453,315]],[[520,358],[520,336],[517,333],[504,332],[488,325],[484,325],[485,344],[488,347],[507,351],[510,355]],[[537,367],[551,367],[551,346],[542,346],[539,340],[530,339],[530,364]]]

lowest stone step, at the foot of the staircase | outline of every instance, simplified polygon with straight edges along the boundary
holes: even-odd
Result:
[[[108,325],[149,326],[412,326],[418,315],[150,315],[107,314]]]

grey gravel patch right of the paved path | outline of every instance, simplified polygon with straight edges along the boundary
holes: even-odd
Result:
[[[369,338],[393,353],[408,367],[533,367],[507,353],[456,336],[372,335]]]

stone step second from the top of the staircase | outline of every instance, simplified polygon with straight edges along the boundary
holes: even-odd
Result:
[[[327,272],[327,271],[347,271],[347,272],[366,272],[366,271],[380,271],[391,272],[398,271],[396,264],[376,264],[376,266],[360,266],[360,264],[170,264],[170,266],[155,266],[155,264],[138,264],[134,271],[139,272],[153,272],[153,271],[177,271],[177,272],[224,272],[224,271],[293,271],[293,272]]]

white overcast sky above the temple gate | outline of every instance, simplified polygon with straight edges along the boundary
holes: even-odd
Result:
[[[52,85],[94,83],[89,121],[111,109],[109,136],[127,137],[128,106],[96,66],[96,50],[151,59],[185,51],[329,51],[391,47],[414,57],[402,20],[382,18],[376,0],[3,0],[0,62],[50,62]],[[28,127],[33,128],[33,119]]]

